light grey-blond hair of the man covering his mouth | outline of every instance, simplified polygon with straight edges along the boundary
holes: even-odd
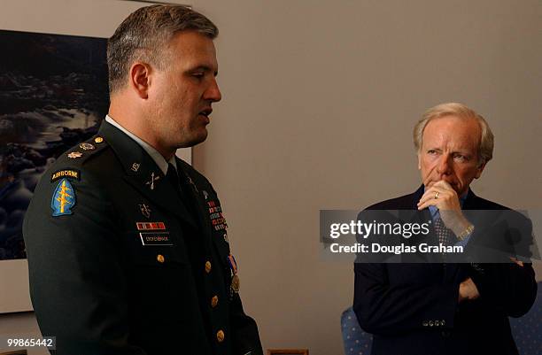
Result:
[[[487,121],[466,105],[457,103],[437,104],[437,106],[431,107],[423,113],[422,119],[414,126],[414,147],[418,153],[422,150],[423,130],[427,124],[430,120],[445,116],[454,116],[460,119],[476,119],[482,131],[478,145],[478,164],[485,164],[493,158],[494,137]]]

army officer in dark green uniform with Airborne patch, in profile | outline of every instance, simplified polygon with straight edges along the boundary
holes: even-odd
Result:
[[[35,189],[30,292],[59,355],[262,353],[216,192],[175,157],[221,100],[216,35],[186,7],[132,13],[108,42],[108,116]]]

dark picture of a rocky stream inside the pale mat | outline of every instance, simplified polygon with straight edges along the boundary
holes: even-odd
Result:
[[[13,279],[6,261],[26,259],[22,223],[37,182],[60,154],[95,135],[107,113],[107,42],[0,30],[0,45],[10,53],[0,56],[0,269]],[[29,308],[6,306],[0,310]]]

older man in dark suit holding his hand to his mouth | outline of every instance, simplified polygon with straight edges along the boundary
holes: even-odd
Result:
[[[463,104],[440,104],[414,127],[422,186],[368,210],[430,212],[435,232],[452,243],[476,236],[466,210],[506,211],[469,185],[492,158],[487,122]],[[473,236],[475,235],[475,236]],[[356,263],[353,309],[374,334],[374,355],[517,354],[508,316],[536,297],[528,263]]]

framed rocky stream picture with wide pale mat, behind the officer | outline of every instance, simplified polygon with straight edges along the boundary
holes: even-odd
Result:
[[[48,166],[97,133],[109,106],[107,38],[129,13],[148,3],[3,2],[0,313],[32,311],[22,238],[27,205]],[[178,150],[177,155],[191,164],[190,149]]]

